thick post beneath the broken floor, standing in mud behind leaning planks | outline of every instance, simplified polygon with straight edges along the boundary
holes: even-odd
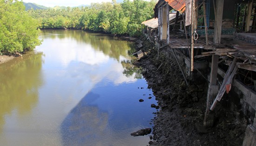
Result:
[[[218,74],[218,62],[219,56],[212,55],[212,64],[211,64],[211,73],[210,73],[210,83],[207,93],[207,102],[206,102],[206,111],[204,114],[203,125],[207,126],[207,120],[209,116],[209,109],[213,102],[214,97],[218,94],[218,85],[217,85],[217,74]]]

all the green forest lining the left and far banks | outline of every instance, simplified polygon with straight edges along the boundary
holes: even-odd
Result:
[[[40,29],[82,29],[112,34],[141,35],[141,22],[154,16],[157,0],[92,3],[64,9],[29,9],[22,1],[0,0],[0,55],[30,49],[41,42]]]

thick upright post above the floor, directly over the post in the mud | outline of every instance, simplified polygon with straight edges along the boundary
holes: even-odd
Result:
[[[217,44],[221,43],[223,5],[224,5],[224,0],[216,0],[216,6],[214,4],[215,12],[216,12],[215,24],[214,24],[214,43],[217,43]]]

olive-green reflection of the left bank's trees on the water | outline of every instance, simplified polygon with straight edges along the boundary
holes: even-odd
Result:
[[[41,67],[42,53],[34,51],[0,65],[0,132],[6,114],[16,109],[18,115],[25,115],[37,104]]]

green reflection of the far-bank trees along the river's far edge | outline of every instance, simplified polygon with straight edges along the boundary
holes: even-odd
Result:
[[[102,51],[105,55],[120,60],[120,56],[127,56],[128,51],[134,52],[133,44],[127,41],[114,40],[108,34],[99,34],[85,31],[74,30],[53,30],[51,34],[48,31],[42,31],[44,38],[75,39],[77,43],[89,44],[95,51]],[[110,41],[112,40],[112,41]],[[88,55],[89,56],[89,55]]]

